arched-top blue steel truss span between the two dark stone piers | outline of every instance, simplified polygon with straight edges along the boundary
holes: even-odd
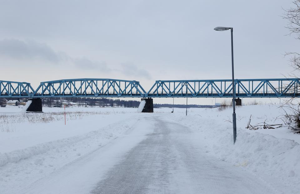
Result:
[[[32,97],[144,97],[135,80],[69,79],[41,82]]]

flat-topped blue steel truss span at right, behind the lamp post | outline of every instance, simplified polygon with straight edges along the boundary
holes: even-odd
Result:
[[[300,80],[236,79],[235,95],[241,98],[298,97]],[[232,97],[232,80],[157,80],[146,97]]]

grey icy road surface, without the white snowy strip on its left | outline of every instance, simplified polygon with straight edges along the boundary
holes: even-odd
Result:
[[[153,128],[91,193],[274,193],[257,177],[195,148],[185,126],[156,117]]]

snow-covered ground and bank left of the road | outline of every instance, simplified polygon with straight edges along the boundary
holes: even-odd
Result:
[[[61,121],[21,123],[24,131],[0,133],[0,193],[24,193],[28,185],[57,172],[57,169],[97,150],[106,152],[112,141],[128,137],[132,130],[138,132],[135,133],[138,137],[133,137],[130,143],[143,139],[148,131],[138,129],[145,124],[140,119],[145,114],[132,113],[133,110],[128,109],[128,114],[87,115],[86,119],[69,120],[67,125]],[[128,144],[120,150],[125,148],[129,149]],[[107,162],[107,158],[102,159],[102,162]],[[112,165],[116,161],[114,158],[109,163]]]

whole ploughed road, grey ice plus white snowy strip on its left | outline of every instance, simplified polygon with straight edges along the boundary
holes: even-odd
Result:
[[[123,136],[29,185],[24,193],[277,193],[219,160],[193,131],[164,116],[137,119]]]

